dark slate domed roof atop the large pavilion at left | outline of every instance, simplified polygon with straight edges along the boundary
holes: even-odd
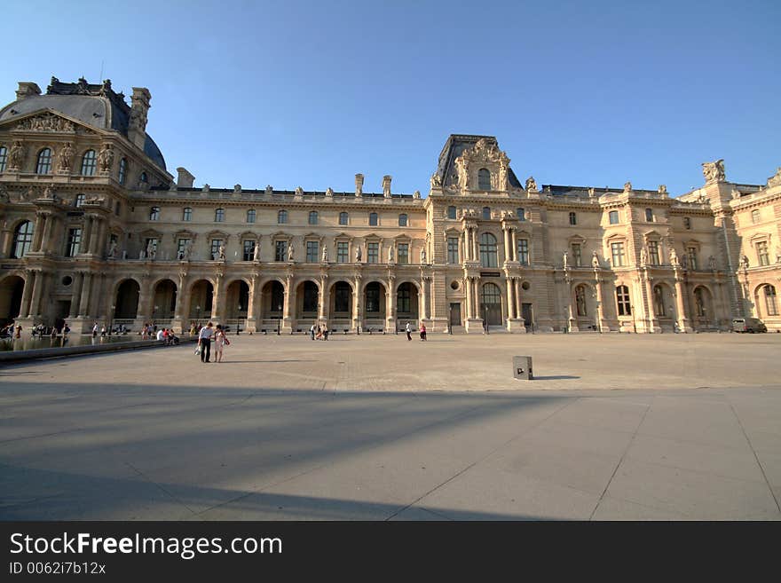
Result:
[[[60,83],[56,77],[51,77],[45,95],[32,95],[0,109],[0,123],[46,109],[99,130],[115,130],[123,136],[128,135],[130,106],[125,103],[122,93],[114,93],[108,80],[96,85],[83,79],[79,83]],[[166,169],[162,152],[149,134],[146,134],[144,153],[161,169]]]

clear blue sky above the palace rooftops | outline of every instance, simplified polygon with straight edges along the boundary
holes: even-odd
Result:
[[[2,101],[84,75],[152,92],[147,131],[196,185],[428,191],[451,133],[523,181],[702,184],[781,166],[781,2],[16,2]],[[18,23],[18,24],[15,24]]]

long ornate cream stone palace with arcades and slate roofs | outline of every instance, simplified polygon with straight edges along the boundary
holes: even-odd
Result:
[[[781,169],[761,184],[522,183],[496,138],[451,135],[428,195],[194,187],[105,81],[0,109],[0,320],[186,330],[657,333],[781,329]],[[525,174],[529,169],[525,169]],[[377,185],[375,190],[380,190]]]

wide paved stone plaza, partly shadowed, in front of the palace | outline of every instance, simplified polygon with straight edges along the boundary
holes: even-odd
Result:
[[[0,368],[0,519],[781,519],[781,335],[231,340]]]

